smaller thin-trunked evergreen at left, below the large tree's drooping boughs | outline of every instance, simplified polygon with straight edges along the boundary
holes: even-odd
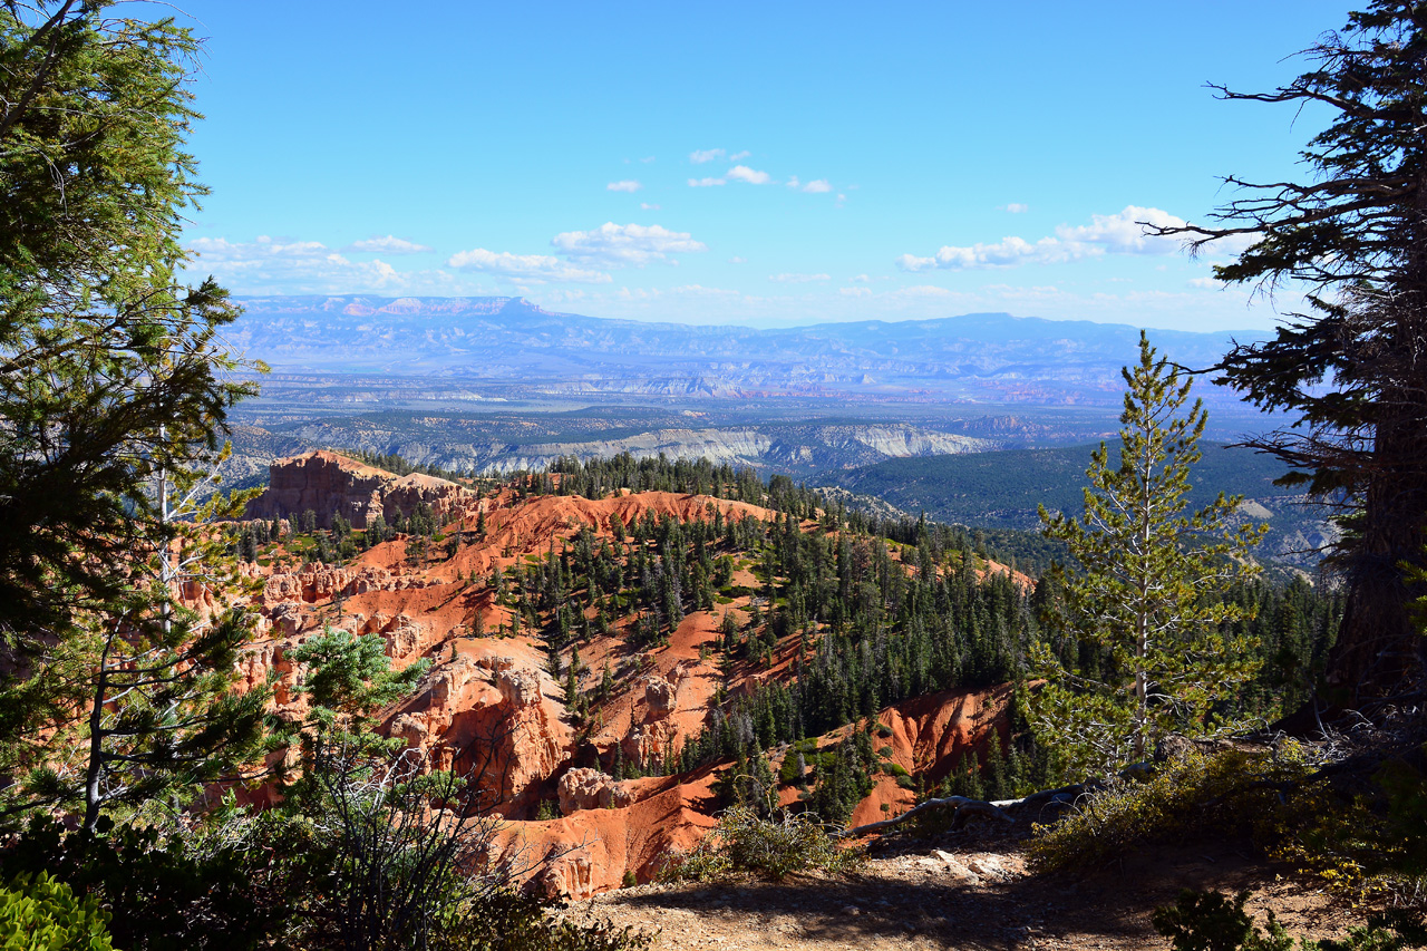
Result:
[[[193,473],[160,478],[166,544],[128,553],[123,595],[77,613],[34,674],[0,693],[0,710],[30,738],[0,754],[26,771],[0,811],[73,810],[91,832],[103,815],[186,802],[260,751],[268,694],[231,690],[251,617],[204,618],[178,598],[184,587],[237,587],[234,560],[204,523],[233,518],[248,495],[198,503],[203,484]]]

